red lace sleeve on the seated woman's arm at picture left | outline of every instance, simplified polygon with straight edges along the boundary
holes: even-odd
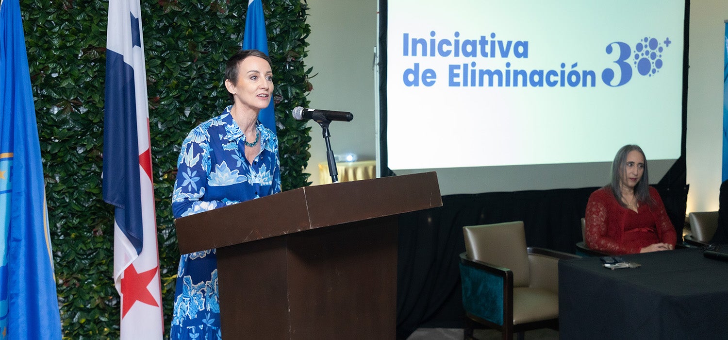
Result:
[[[587,247],[612,255],[639,253],[640,249],[621,245],[613,236],[614,231],[622,226],[616,225],[621,217],[614,216],[617,211],[610,207],[619,204],[608,190],[598,189],[589,197],[584,216],[586,223],[586,240],[584,241]]]

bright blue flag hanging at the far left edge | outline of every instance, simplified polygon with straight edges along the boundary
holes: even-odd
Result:
[[[0,1],[0,339],[60,339],[20,1]]]

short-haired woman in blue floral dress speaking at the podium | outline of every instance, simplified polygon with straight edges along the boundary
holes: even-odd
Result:
[[[268,56],[237,52],[226,63],[225,87],[232,105],[182,143],[175,218],[280,192],[278,139],[258,122],[273,93]],[[170,339],[219,339],[217,277],[215,249],[181,256]]]

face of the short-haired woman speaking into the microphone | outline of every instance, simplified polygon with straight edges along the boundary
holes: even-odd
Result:
[[[248,57],[238,65],[237,82],[226,81],[228,91],[244,108],[260,111],[268,107],[273,93],[273,72],[268,61]]]

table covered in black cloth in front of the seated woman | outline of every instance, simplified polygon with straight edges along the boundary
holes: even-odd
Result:
[[[728,262],[697,249],[558,263],[561,339],[728,339]]]

